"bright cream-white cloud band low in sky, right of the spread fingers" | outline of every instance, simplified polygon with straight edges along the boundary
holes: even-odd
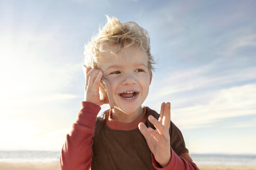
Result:
[[[255,95],[256,84],[220,90],[207,104],[175,109],[173,117],[182,128],[190,128],[209,126],[224,118],[254,115]]]

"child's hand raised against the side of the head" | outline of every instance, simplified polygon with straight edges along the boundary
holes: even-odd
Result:
[[[83,66],[83,72],[86,80],[84,90],[84,101],[94,103],[98,106],[104,104],[99,97],[99,85],[103,72],[100,69],[89,69]]]

